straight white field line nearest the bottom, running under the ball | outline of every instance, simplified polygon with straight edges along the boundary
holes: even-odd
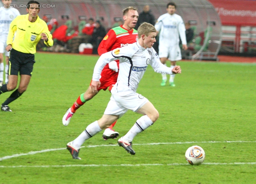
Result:
[[[234,162],[234,163],[202,163],[201,165],[246,165],[246,164],[256,164],[256,162]],[[189,165],[188,163],[173,163],[173,164],[89,164],[89,165],[82,165],[82,164],[76,164],[76,165],[19,165],[19,166],[0,166],[0,168],[20,168],[20,167],[133,167],[133,166],[181,166],[181,165]]]

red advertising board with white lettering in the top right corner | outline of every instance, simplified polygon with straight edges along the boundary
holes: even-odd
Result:
[[[208,0],[222,25],[256,25],[256,0]]]

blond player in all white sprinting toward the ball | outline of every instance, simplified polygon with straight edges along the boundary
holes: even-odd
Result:
[[[112,62],[111,69],[118,70],[116,61],[119,59],[119,74],[116,84],[111,90],[111,98],[102,118],[94,121],[76,138],[67,144],[73,159],[80,159],[78,153],[81,145],[87,139],[96,135],[102,129],[108,128],[114,121],[122,117],[128,110],[140,113],[140,117],[126,135],[118,140],[128,153],[135,155],[132,149],[132,140],[140,132],[144,131],[158,119],[158,111],[153,104],[141,94],[136,93],[138,84],[146,71],[148,64],[155,72],[165,74],[181,73],[180,66],[173,69],[164,66],[156,51],[152,48],[156,42],[156,29],[150,23],[142,23],[138,28],[139,40],[128,46],[114,49],[104,53],[98,59],[92,76],[92,91],[97,91],[100,86],[100,73],[107,63]]]

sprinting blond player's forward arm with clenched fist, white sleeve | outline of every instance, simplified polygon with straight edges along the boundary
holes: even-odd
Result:
[[[152,58],[150,59],[150,65],[154,69],[155,72],[162,73],[162,74],[177,74],[181,73],[180,66],[175,66],[173,69],[170,67],[166,67],[163,65],[158,57],[158,54],[156,51],[152,48],[153,55]]]

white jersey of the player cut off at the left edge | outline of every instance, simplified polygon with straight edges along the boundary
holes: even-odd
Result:
[[[14,18],[20,15],[20,12],[16,8],[4,8],[0,7],[0,39],[6,41],[10,23]]]

